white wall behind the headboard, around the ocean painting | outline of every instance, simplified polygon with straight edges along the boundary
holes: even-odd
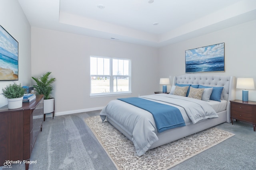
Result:
[[[185,74],[185,50],[225,43],[225,72],[200,73],[254,78],[256,87],[256,20],[162,47],[159,50],[159,74],[162,77]],[[165,69],[161,69],[165,68]],[[197,73],[198,74],[198,73]],[[170,87],[169,87],[170,88]],[[242,100],[242,89],[236,90]],[[249,90],[249,100],[256,101],[256,90]]]

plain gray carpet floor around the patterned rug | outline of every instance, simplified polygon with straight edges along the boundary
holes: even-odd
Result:
[[[115,170],[84,118],[99,115],[90,111],[46,117],[31,154],[30,170]],[[234,133],[226,141],[178,164],[171,170],[255,170],[256,132],[250,123],[235,121],[216,127]],[[1,169],[1,168],[0,168]],[[2,168],[10,170],[10,168]],[[11,170],[25,165],[12,164]]]

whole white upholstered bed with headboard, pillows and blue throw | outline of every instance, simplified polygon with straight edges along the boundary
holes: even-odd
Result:
[[[102,121],[107,119],[109,123],[130,139],[134,143],[136,154],[141,156],[149,149],[192,135],[220,123],[230,122],[230,100],[235,98],[234,81],[235,78],[232,76],[175,76],[170,94],[152,94],[136,98],[136,100],[142,100],[142,102],[152,102],[145,104],[148,106],[153,107],[154,104],[157,104],[154,105],[153,109],[162,109],[164,108],[162,106],[179,109],[184,122],[175,122],[175,125],[167,126],[168,128],[163,131],[158,127],[160,126],[158,120],[154,119],[156,115],[152,115],[150,113],[152,111],[148,109],[136,106],[138,101],[134,102],[134,106],[133,103],[122,99],[112,100],[102,109],[100,117]],[[184,88],[188,88],[191,92],[188,92],[186,96],[177,95],[178,90]],[[218,90],[219,88],[222,90]],[[215,91],[212,90],[212,93],[208,93],[207,97],[204,93],[211,91],[210,89],[215,89]],[[216,98],[212,98],[216,94],[216,89],[221,93],[217,101]],[[197,94],[199,91],[204,96],[204,100],[198,100],[190,95],[193,92]],[[190,96],[188,97],[188,95]],[[128,99],[130,100],[130,98]],[[196,108],[192,109],[192,107]],[[203,112],[201,110],[205,113],[201,113]]]

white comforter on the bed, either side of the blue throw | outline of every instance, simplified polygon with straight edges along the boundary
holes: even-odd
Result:
[[[202,119],[218,117],[216,111],[205,101],[170,94],[141,96],[180,109],[185,123],[196,123]],[[144,109],[120,100],[112,100],[100,112],[102,121],[110,117],[126,133],[132,136],[136,153],[143,155],[150,146],[158,141],[157,128],[152,114]]]

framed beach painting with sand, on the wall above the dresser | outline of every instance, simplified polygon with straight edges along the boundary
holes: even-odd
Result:
[[[0,80],[18,80],[18,41],[1,25]]]

